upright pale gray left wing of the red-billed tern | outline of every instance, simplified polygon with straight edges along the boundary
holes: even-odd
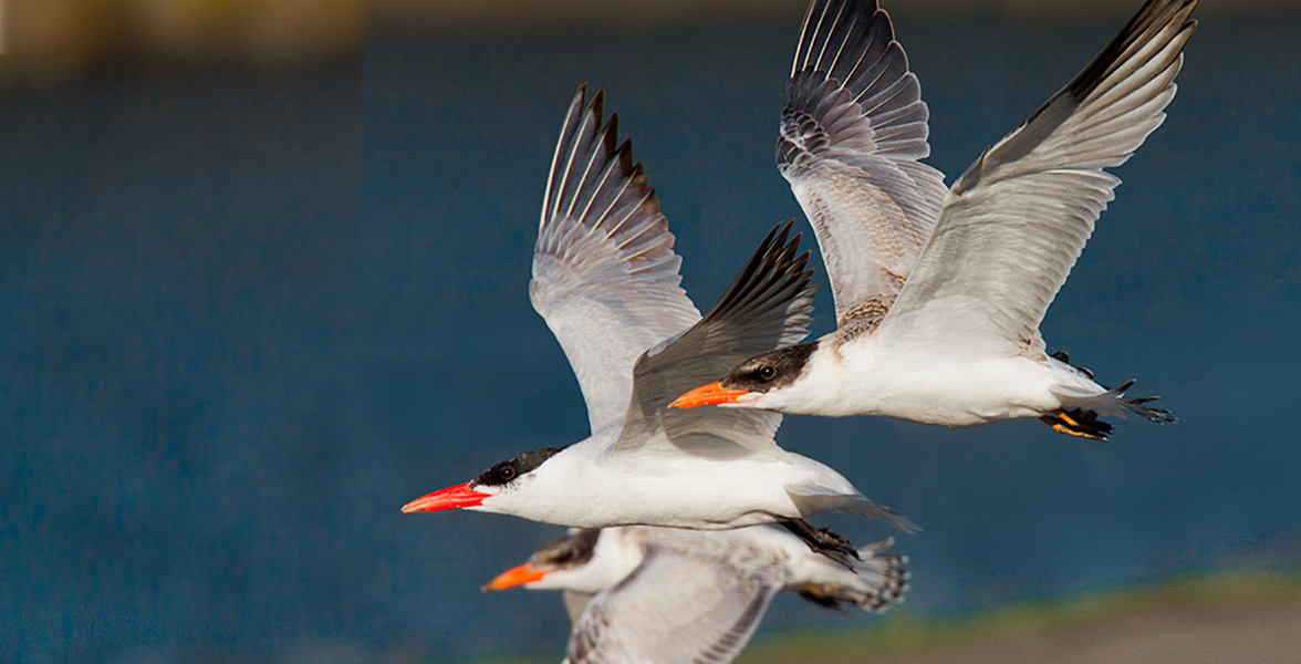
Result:
[[[528,294],[565,349],[592,432],[622,422],[637,355],[700,319],[660,199],[579,87],[552,159]]]

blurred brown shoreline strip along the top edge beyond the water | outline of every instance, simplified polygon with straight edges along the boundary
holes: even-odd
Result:
[[[1138,0],[908,0],[882,3],[904,22],[1114,21]],[[60,81],[105,64],[239,61],[294,66],[356,56],[389,30],[431,35],[637,34],[692,26],[790,26],[800,0],[9,0],[0,5],[0,82]],[[1298,16],[1293,0],[1205,3],[1198,17]]]

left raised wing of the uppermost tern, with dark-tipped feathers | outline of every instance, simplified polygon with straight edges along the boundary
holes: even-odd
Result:
[[[920,160],[930,111],[876,0],[814,0],[786,86],[777,165],[817,236],[842,327],[879,316],[945,201]]]

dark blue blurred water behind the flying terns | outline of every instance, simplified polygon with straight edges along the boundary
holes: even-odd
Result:
[[[398,506],[585,435],[526,290],[578,83],[608,90],[701,307],[800,217],[773,167],[796,18],[385,36],[307,70],[0,91],[0,660],[559,659],[558,598],[479,591],[558,529]],[[1038,422],[787,419],[783,445],[926,529],[896,544],[909,611],[1301,562],[1285,23],[1203,22],[1043,325],[1181,424],[1089,444]],[[900,21],[932,163],[959,173],[1114,27]],[[827,289],[817,305],[825,332]],[[873,620],[783,599],[764,630],[813,624]]]

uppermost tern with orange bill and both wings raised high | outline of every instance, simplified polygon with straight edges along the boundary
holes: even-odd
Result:
[[[929,111],[876,1],[814,0],[778,163],[817,236],[838,329],[758,354],[674,401],[967,427],[1039,418],[1106,440],[1098,415],[1175,422],[1045,353],[1039,323],[1164,120],[1197,0],[1149,0],[1062,91],[945,191],[919,160]],[[928,240],[929,238],[929,240]]]

